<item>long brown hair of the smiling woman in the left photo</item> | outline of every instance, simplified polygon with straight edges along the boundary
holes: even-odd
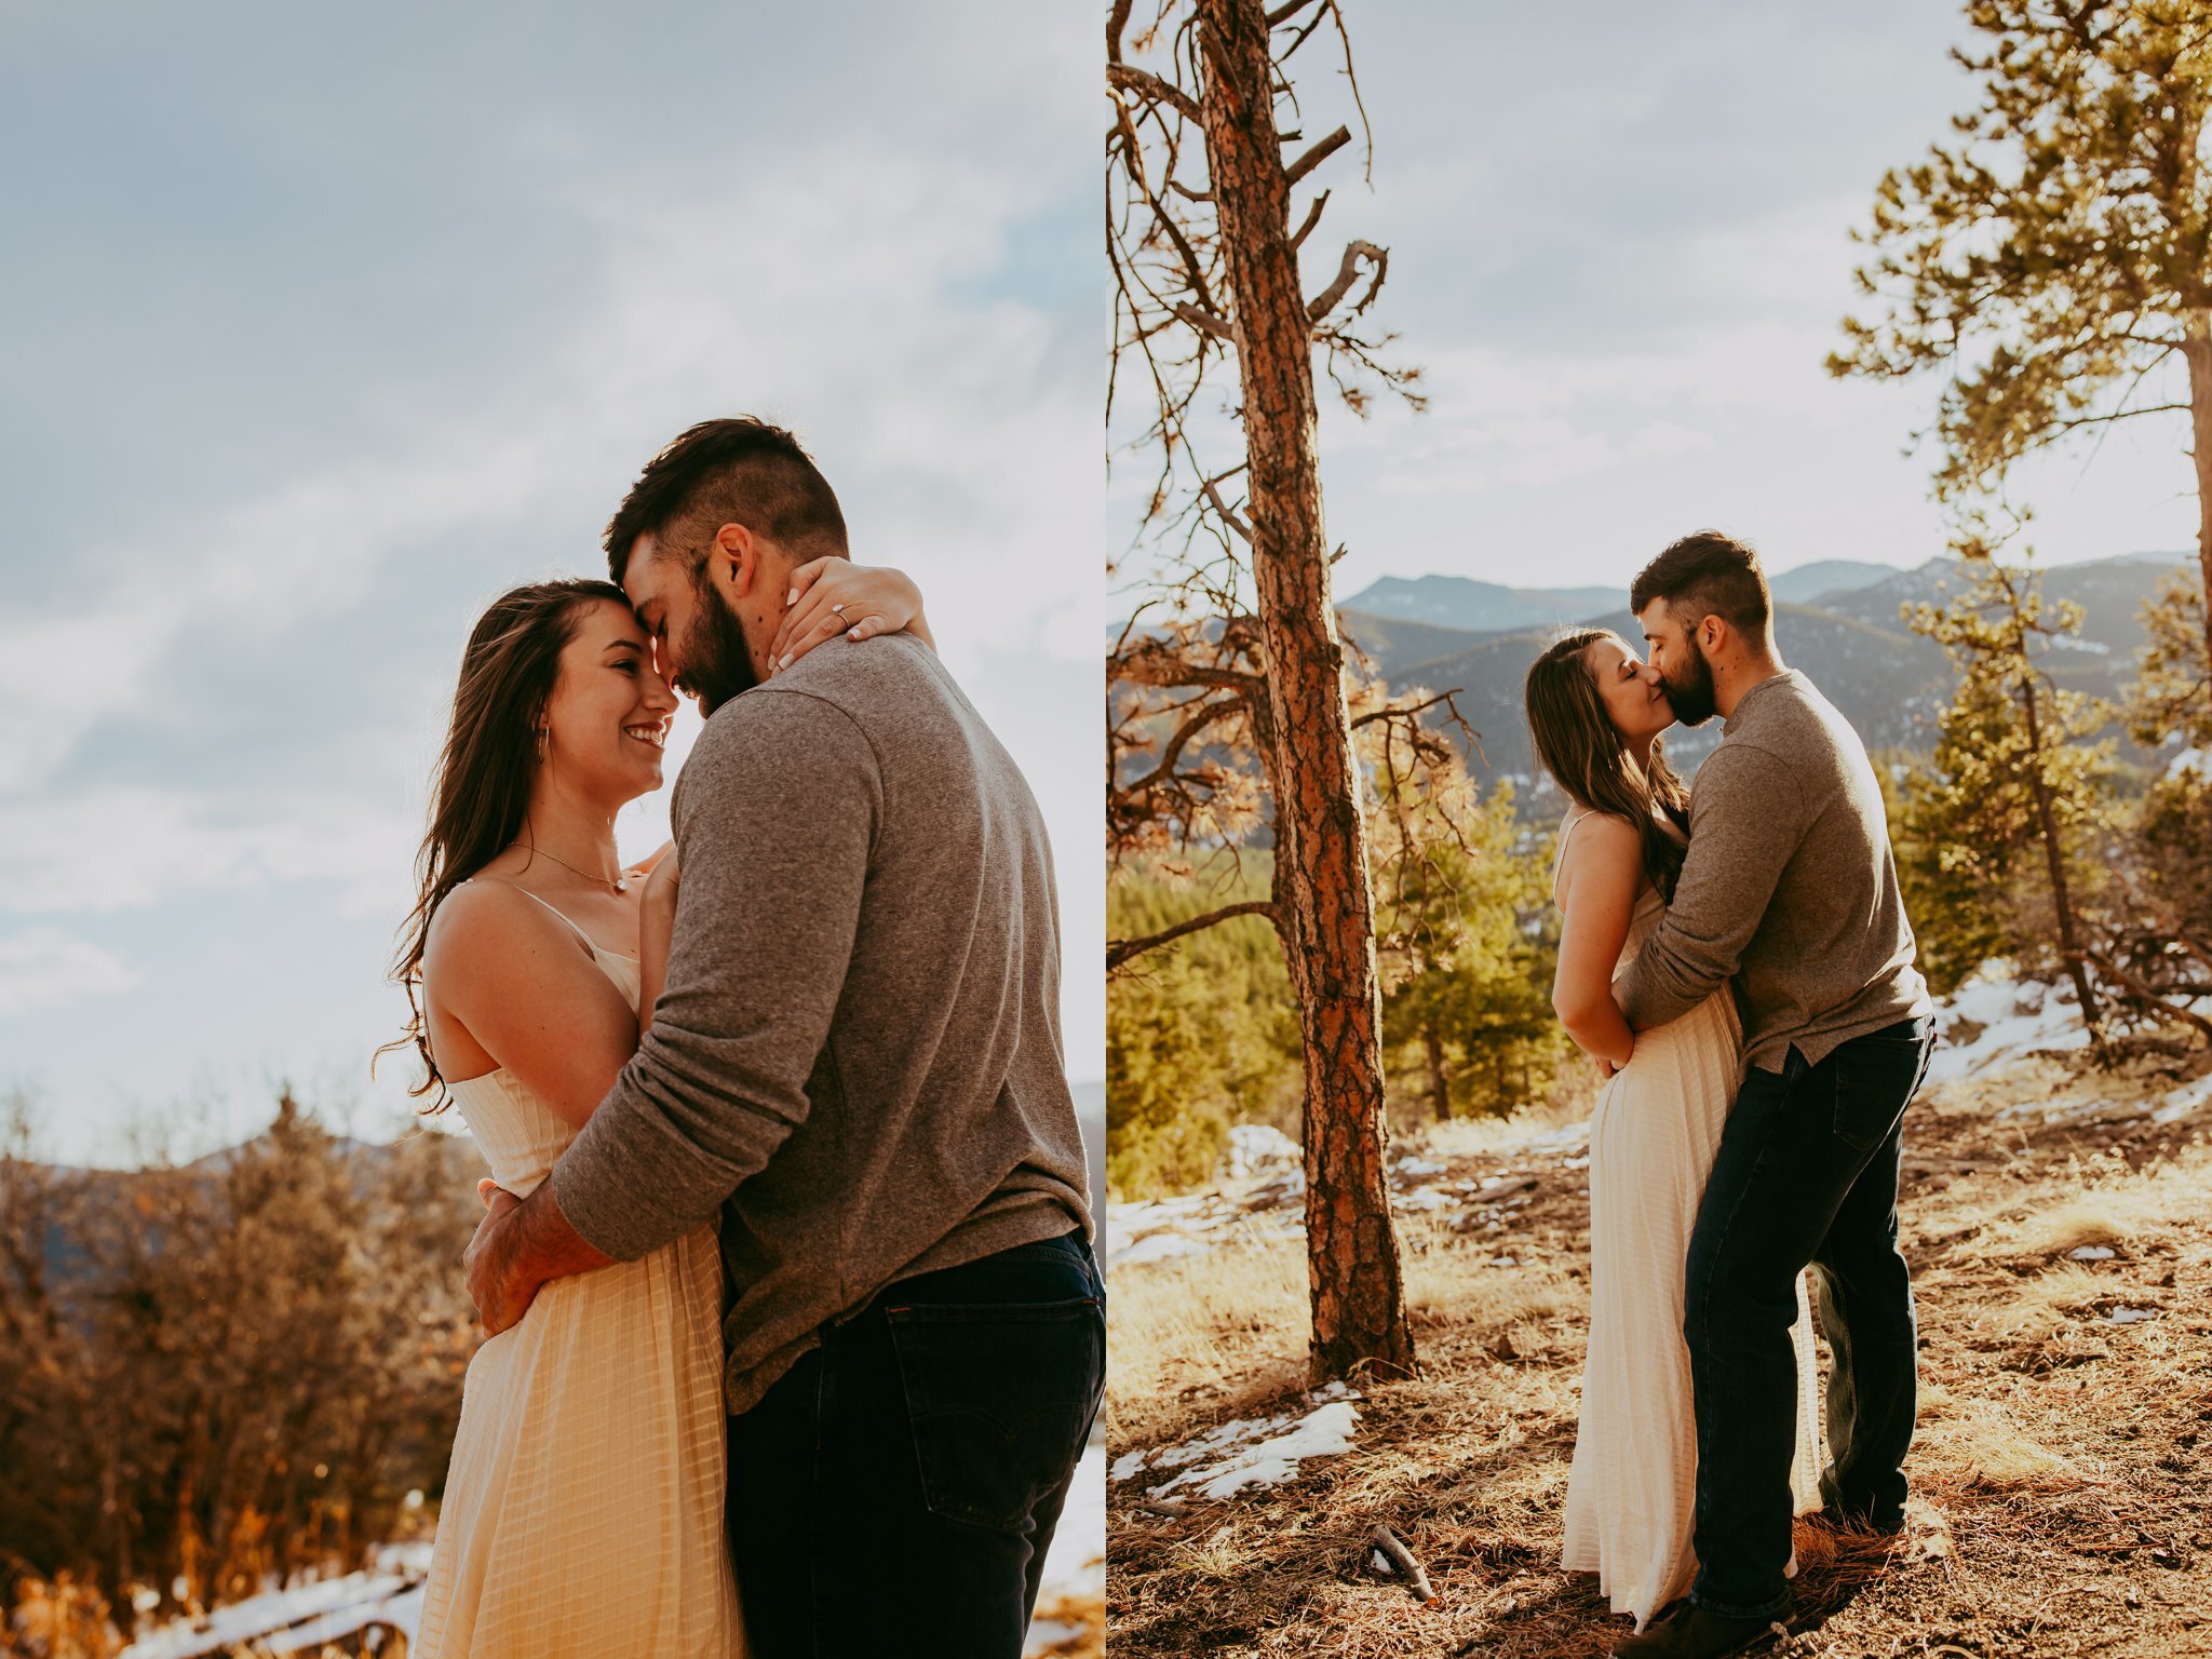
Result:
[[[577,617],[599,599],[624,611],[630,602],[613,582],[571,577],[509,588],[476,622],[460,653],[453,721],[431,772],[429,834],[416,852],[416,902],[400,922],[392,978],[407,991],[407,1029],[378,1048],[385,1055],[414,1044],[422,1082],[409,1095],[436,1093],[425,1110],[447,1106],[445,1077],[429,1051],[422,1020],[422,947],[429,920],[445,896],[507,852],[522,834],[538,772],[538,723],[560,679],[560,653],[575,637]]]

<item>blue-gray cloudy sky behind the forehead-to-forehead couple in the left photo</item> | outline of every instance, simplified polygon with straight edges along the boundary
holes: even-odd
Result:
[[[1104,1073],[1097,27],[1048,11],[9,11],[0,1091],[51,1150],[279,1077],[405,1121],[367,1057],[467,628],[734,411],[1029,772]]]

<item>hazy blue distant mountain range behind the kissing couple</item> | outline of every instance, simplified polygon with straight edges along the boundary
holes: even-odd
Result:
[[[2084,608],[2079,644],[2053,653],[2053,677],[2117,697],[2143,644],[2141,606],[2188,553],[2126,553],[2044,568],[2044,597]],[[1774,635],[1783,659],[1803,668],[1869,748],[1924,748],[1953,679],[1942,650],[1913,635],[1900,608],[1940,599],[1962,582],[1958,560],[1900,571],[1889,564],[1823,560],[1772,580]],[[1522,677],[1544,644],[1568,626],[1613,628],[1641,648],[1628,595],[1615,588],[1506,588],[1453,575],[1385,577],[1338,608],[1345,637],[1394,690],[1458,688],[1460,712],[1480,732],[1478,772],[1533,772],[1522,721]],[[1668,734],[1688,770],[1719,741],[1721,723]]]

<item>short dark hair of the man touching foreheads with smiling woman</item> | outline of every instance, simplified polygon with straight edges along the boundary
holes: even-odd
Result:
[[[814,458],[783,427],[737,416],[701,420],[646,462],[606,524],[608,575],[622,582],[639,535],[699,562],[723,524],[807,560],[847,551],[845,513]]]

